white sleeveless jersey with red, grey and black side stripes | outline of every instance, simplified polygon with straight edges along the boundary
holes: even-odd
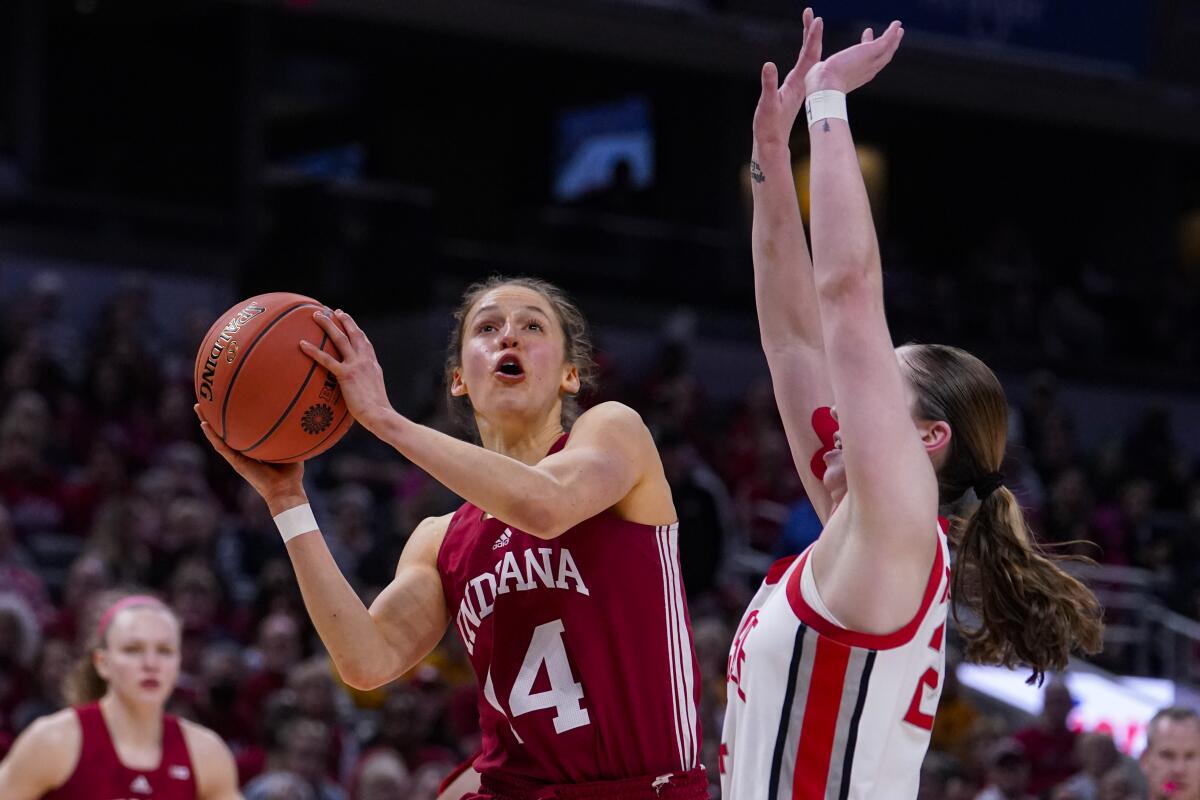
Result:
[[[888,634],[816,610],[810,552],[770,569],[733,639],[721,796],[912,800],[942,693],[946,536],[937,531],[920,608]]]

